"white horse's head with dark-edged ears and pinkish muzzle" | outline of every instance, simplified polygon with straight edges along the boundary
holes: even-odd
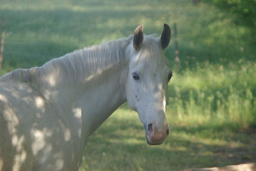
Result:
[[[170,27],[164,24],[159,38],[144,36],[143,25],[136,28],[128,46],[129,68],[126,96],[130,108],[144,124],[147,143],[159,145],[169,134],[165,117],[168,83],[172,71],[164,57],[170,42]]]

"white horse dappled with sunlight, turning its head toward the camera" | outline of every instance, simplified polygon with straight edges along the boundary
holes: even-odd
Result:
[[[169,134],[170,42],[133,35],[68,53],[42,67],[0,78],[0,170],[78,170],[88,137],[125,101],[138,112],[150,145]]]

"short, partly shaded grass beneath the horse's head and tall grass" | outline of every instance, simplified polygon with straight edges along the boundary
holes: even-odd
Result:
[[[136,117],[118,115],[89,138],[81,170],[181,170],[256,162],[255,130],[173,124],[162,145],[149,146]]]

